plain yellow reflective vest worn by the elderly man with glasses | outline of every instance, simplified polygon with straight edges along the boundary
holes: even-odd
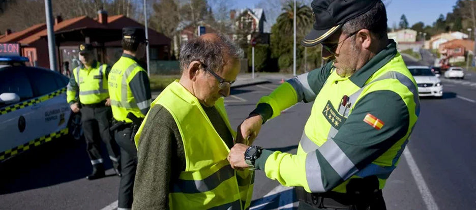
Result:
[[[223,101],[219,99],[215,108],[235,136]],[[151,108],[156,104],[173,116],[185,149],[186,169],[171,183],[170,209],[247,209],[252,198],[254,173],[231,168],[227,161],[230,150],[198,99],[175,81],[152,102]],[[135,136],[136,146],[146,122],[147,116]]]

